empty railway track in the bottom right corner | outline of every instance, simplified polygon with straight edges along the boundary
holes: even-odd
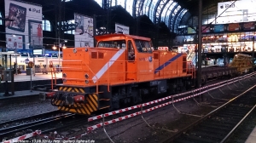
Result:
[[[255,112],[256,85],[237,95],[223,106],[208,113],[186,129],[164,140],[164,143],[216,143],[230,139],[245,119]]]

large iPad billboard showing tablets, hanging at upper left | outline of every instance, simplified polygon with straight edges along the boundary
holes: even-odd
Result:
[[[8,49],[43,48],[41,6],[5,0],[5,18]]]

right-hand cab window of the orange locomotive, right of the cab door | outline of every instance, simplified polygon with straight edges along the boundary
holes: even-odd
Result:
[[[149,41],[137,40],[135,39],[137,51],[139,53],[152,53],[151,45]]]

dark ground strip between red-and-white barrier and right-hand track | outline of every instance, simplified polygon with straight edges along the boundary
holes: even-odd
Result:
[[[255,79],[255,77],[253,77],[253,79]],[[239,89],[248,89],[248,87],[251,87],[251,85],[253,85],[253,81],[242,82],[242,84],[243,86],[240,83],[236,83],[239,88],[237,88],[234,84],[230,85],[232,90],[230,90],[227,86],[221,88],[221,91],[223,91],[224,94],[219,89],[211,91],[211,94],[213,97],[218,99],[232,99],[235,97],[234,94],[241,94],[241,91],[238,91]],[[197,106],[195,100],[201,100],[201,104],[204,106]],[[214,100],[208,94],[201,96],[201,99],[197,97],[195,100],[189,99],[181,101],[175,103],[175,106],[180,112],[195,115],[206,115],[208,112],[211,112],[226,102],[226,100]],[[115,143],[155,143],[165,140],[168,136],[173,134],[172,131],[175,131],[176,129],[181,130],[187,127],[190,123],[194,123],[196,120],[200,119],[200,117],[180,114],[172,105],[162,107],[161,109],[157,109],[153,112],[145,113],[143,114],[143,117],[145,120],[147,120],[151,128],[148,127],[147,123],[143,122],[143,118],[141,116],[137,116],[106,126],[108,135]],[[108,120],[106,119],[105,121]],[[87,126],[84,125],[84,127]],[[87,134],[80,140],[110,142],[102,129],[96,129],[92,132],[92,134]]]

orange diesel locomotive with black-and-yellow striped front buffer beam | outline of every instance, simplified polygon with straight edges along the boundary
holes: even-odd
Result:
[[[191,87],[195,77],[187,54],[153,51],[147,37],[96,36],[96,48],[63,50],[63,83],[51,100],[61,111],[90,115],[120,104],[137,104],[150,94]]]

